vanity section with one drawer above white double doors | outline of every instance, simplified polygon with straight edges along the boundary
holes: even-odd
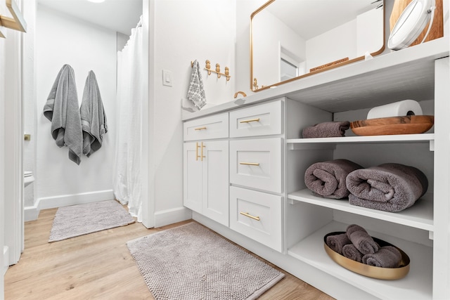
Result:
[[[229,225],[228,124],[228,113],[184,123],[183,147],[184,206],[224,226]]]

